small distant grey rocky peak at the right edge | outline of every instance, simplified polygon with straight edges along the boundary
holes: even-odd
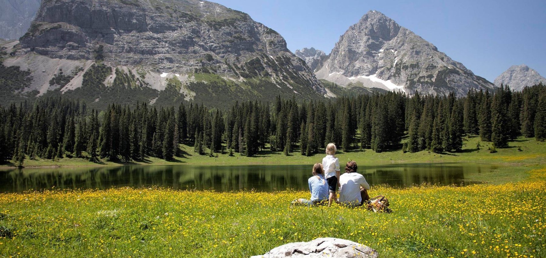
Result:
[[[546,78],[537,71],[526,65],[511,66],[505,72],[495,78],[495,85],[508,85],[514,91],[521,91],[525,86],[533,86],[539,83],[546,83]]]

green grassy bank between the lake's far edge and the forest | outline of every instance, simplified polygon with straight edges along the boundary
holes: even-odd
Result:
[[[477,145],[481,145],[478,150]],[[418,153],[403,153],[402,150],[385,151],[375,153],[372,150],[352,150],[347,153],[339,151],[336,156],[340,163],[356,161],[361,166],[367,164],[410,164],[410,163],[475,163],[500,166],[495,177],[484,173],[470,180],[484,181],[492,184],[501,184],[513,180],[525,179],[527,171],[535,169],[546,163],[546,143],[537,142],[534,138],[518,139],[509,143],[509,148],[497,149],[497,153],[490,153],[488,147],[491,143],[480,142],[479,137],[472,136],[464,142],[463,149],[459,153],[436,154],[429,151]],[[163,166],[163,165],[193,165],[193,166],[237,166],[237,165],[312,165],[321,162],[323,154],[302,156],[298,151],[285,156],[282,151],[260,151],[252,157],[235,154],[216,154],[217,157],[198,155],[193,152],[193,147],[180,145],[181,154],[172,161],[165,161],[156,157],[149,157],[145,161],[111,162],[100,161],[93,163],[86,159],[63,158],[61,160],[25,160],[26,168],[75,168],[75,167],[114,167],[114,166]],[[520,149],[520,150],[518,150]],[[9,165],[0,166],[0,171],[11,170],[15,167]],[[514,176],[517,175],[517,176]]]

